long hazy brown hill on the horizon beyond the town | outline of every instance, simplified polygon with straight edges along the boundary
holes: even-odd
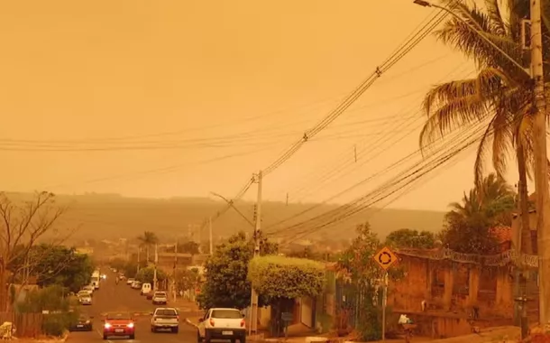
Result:
[[[12,198],[29,199],[31,194],[12,193]],[[141,235],[143,231],[153,231],[163,241],[176,237],[193,236],[196,240],[208,238],[207,225],[201,226],[208,216],[225,208],[225,202],[206,198],[173,198],[173,199],[135,199],[124,198],[116,194],[58,195],[57,201],[69,210],[63,215],[60,224],[78,227],[75,239],[105,239]],[[316,206],[303,215],[297,216]],[[250,220],[253,220],[254,204],[239,201],[236,207]],[[346,240],[355,236],[354,227],[369,221],[372,229],[381,238],[399,228],[415,228],[437,232],[441,229],[445,213],[438,211],[410,209],[368,209],[357,215],[346,218],[327,227],[322,226],[325,220],[310,221],[307,225],[289,226],[314,218],[338,208],[328,204],[292,204],[281,202],[264,202],[262,204],[262,227],[270,236],[282,236],[286,239],[319,238],[329,240]],[[270,227],[285,218],[291,218],[277,227]],[[203,227],[203,229],[199,229]],[[234,209],[229,209],[223,216],[213,222],[215,240],[230,236],[240,230],[250,232],[252,227]]]

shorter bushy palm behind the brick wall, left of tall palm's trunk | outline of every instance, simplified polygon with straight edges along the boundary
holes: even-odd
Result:
[[[493,227],[509,226],[515,208],[513,190],[495,174],[490,174],[462,202],[450,204],[445,215],[443,243],[454,251],[468,254],[496,254],[499,242]]]

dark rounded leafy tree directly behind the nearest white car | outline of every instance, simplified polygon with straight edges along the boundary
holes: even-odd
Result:
[[[260,254],[277,253],[278,246],[259,237]],[[240,232],[219,246],[206,261],[205,283],[197,301],[202,309],[231,307],[244,309],[250,305],[251,283],[247,279],[248,264],[252,259],[254,243]],[[260,304],[265,303],[263,297]]]

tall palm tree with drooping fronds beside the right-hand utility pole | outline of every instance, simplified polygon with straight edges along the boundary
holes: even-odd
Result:
[[[481,135],[477,148],[474,163],[475,184],[480,186],[482,183],[483,166],[490,151],[492,165],[500,178],[507,171],[509,158],[514,156],[518,163],[520,212],[527,214],[527,177],[531,177],[533,164],[533,83],[524,70],[520,70],[500,51],[485,42],[480,33],[473,31],[470,25],[483,32],[485,37],[514,60],[527,66],[529,55],[522,49],[520,42],[521,19],[527,17],[528,1],[508,0],[506,17],[500,12],[499,0],[485,0],[484,11],[476,5],[464,5],[457,0],[446,2],[463,21],[453,18],[435,34],[445,44],[474,60],[478,73],[472,79],[446,82],[428,91],[424,99],[428,118],[420,133],[420,146],[426,147],[436,136],[448,134],[455,129],[488,121],[489,125]],[[550,14],[547,7],[545,6],[545,14]],[[546,25],[543,31],[548,33]],[[550,35],[544,36],[544,45],[548,47]],[[548,50],[545,49],[544,53],[545,60],[548,60]],[[525,253],[532,254],[529,218],[527,215],[521,218],[521,248]]]

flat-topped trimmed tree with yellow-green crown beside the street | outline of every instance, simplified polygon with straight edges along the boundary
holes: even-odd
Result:
[[[282,311],[292,311],[294,300],[316,297],[325,287],[325,265],[306,258],[278,255],[252,258],[248,280],[271,305],[272,332],[282,332]]]

